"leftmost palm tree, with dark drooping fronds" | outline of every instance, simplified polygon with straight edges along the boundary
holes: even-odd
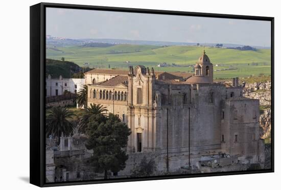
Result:
[[[69,119],[73,119],[73,112],[65,107],[52,107],[46,112],[46,135],[53,135],[59,138],[62,134],[73,135],[74,126]]]

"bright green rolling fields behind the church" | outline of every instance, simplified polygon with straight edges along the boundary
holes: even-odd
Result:
[[[203,47],[197,46],[154,46],[121,44],[110,47],[55,47],[48,48],[46,57],[72,61],[79,66],[89,62],[95,68],[128,68],[128,65],[145,65],[156,71],[192,72],[201,56]],[[215,78],[248,77],[270,75],[270,49],[241,51],[237,49],[205,47],[206,54],[214,64]],[[166,62],[169,67],[157,67]],[[176,66],[172,67],[172,64]],[[216,66],[216,65],[219,66]],[[232,70],[228,70],[232,69]]]

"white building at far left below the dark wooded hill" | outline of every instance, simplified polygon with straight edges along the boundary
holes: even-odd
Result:
[[[63,92],[78,93],[85,84],[85,78],[46,78],[46,97],[62,95]]]

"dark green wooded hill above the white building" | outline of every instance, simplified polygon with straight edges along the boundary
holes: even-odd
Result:
[[[71,73],[77,73],[81,68],[73,62],[46,59],[46,76],[70,78]]]

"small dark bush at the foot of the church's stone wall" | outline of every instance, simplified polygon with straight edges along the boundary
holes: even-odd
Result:
[[[156,170],[155,161],[153,159],[147,160],[146,156],[140,160],[138,166],[135,166],[132,171],[132,177],[147,177],[151,176]]]

